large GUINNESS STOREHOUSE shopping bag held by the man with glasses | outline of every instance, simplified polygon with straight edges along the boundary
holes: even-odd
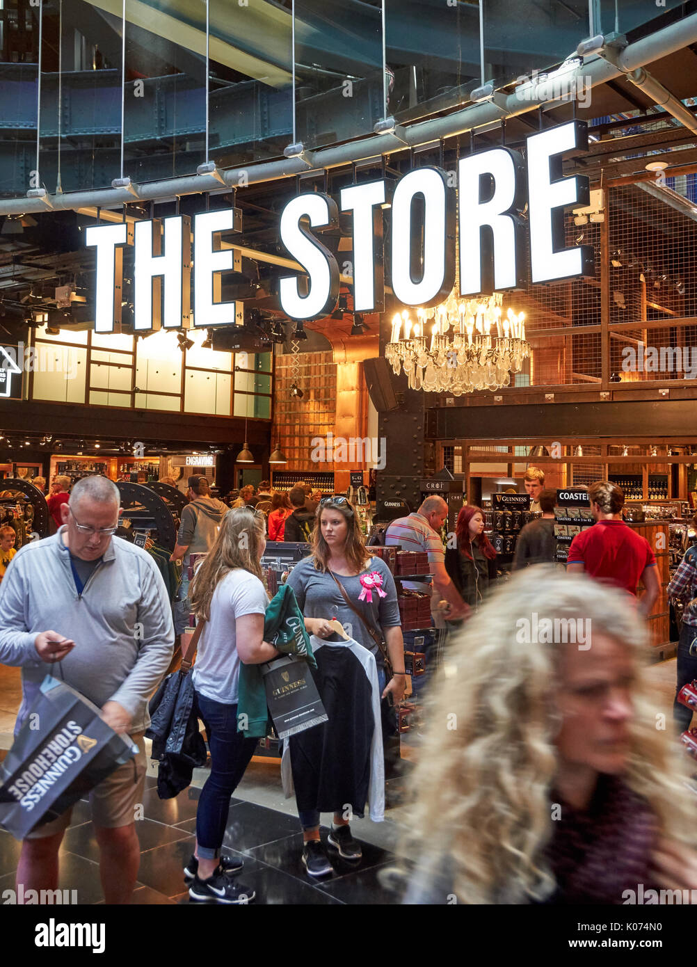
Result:
[[[22,839],[137,751],[128,736],[106,724],[96,705],[47,675],[0,766],[0,826]]]

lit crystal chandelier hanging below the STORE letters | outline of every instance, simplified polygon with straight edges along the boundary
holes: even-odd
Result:
[[[509,385],[510,373],[520,372],[530,356],[525,316],[510,308],[504,315],[499,292],[458,300],[453,290],[440,306],[418,308],[417,317],[414,323],[407,309],[394,315],[385,349],[394,374],[403,367],[410,390],[447,391],[453,396],[499,390]]]

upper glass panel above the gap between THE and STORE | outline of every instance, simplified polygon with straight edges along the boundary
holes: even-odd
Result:
[[[211,0],[209,157],[278,157],[293,140],[291,2]]]

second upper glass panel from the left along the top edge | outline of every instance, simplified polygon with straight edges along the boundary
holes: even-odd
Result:
[[[41,186],[107,188],[119,175],[121,4],[44,0]]]

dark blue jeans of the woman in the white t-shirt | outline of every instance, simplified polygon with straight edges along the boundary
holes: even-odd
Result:
[[[201,790],[196,810],[198,856],[215,860],[225,837],[230,797],[245,775],[256,748],[256,739],[237,731],[237,705],[223,705],[196,693],[196,707],[203,720],[211,750],[211,775]]]

